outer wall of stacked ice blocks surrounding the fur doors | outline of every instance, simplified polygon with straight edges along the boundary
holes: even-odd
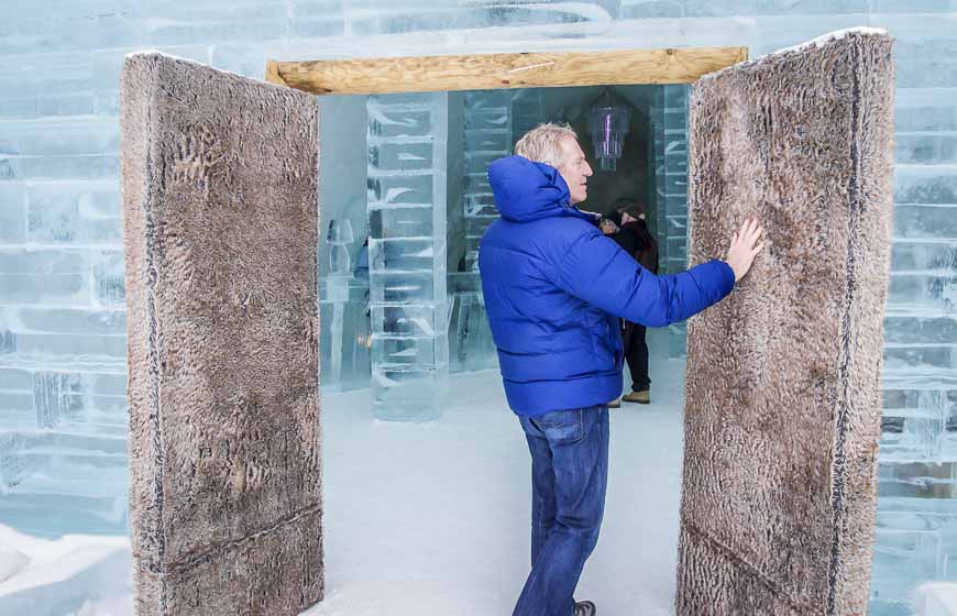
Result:
[[[895,37],[895,220],[871,612],[957,571],[957,7],[950,0],[16,0],[0,23],[0,519],[122,532],[123,56],[261,78],[266,57]],[[330,150],[327,150],[330,152]]]

